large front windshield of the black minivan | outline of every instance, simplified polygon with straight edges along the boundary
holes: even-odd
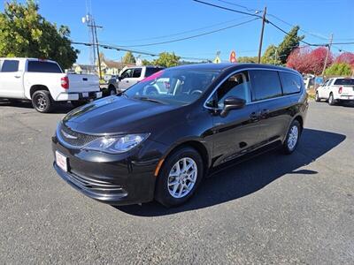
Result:
[[[124,93],[127,97],[165,104],[195,102],[219,75],[219,71],[166,69],[142,79]]]

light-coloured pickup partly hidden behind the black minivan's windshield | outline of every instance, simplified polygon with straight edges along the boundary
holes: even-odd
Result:
[[[125,68],[119,73],[119,78],[117,80],[118,86],[116,87],[118,87],[119,91],[125,91],[127,88],[132,87],[142,79],[147,78],[151,74],[162,69],[164,68],[159,66],[135,66]]]

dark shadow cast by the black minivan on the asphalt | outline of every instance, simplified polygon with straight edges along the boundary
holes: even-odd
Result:
[[[304,129],[296,152],[292,155],[282,155],[279,150],[273,150],[227,167],[213,174],[211,178],[205,178],[191,200],[180,207],[165,208],[158,202],[152,201],[143,203],[142,206],[130,205],[115,208],[133,216],[173,215],[183,211],[211,207],[256,193],[288,173],[316,178],[317,171],[300,168],[325,155],[345,138],[345,135],[339,133]]]

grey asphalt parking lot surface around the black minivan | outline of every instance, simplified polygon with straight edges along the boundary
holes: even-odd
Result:
[[[311,102],[293,155],[205,179],[186,205],[114,208],[52,169],[71,110],[0,102],[0,263],[354,263],[354,106]]]

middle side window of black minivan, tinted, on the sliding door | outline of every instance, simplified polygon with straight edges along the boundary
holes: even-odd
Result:
[[[267,70],[250,71],[253,101],[281,96],[281,81],[278,72]]]

